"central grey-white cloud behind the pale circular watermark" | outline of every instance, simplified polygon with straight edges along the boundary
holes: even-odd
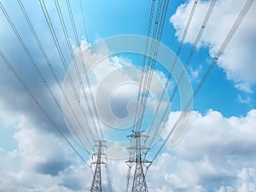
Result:
[[[82,45],[82,47],[84,49],[86,44],[83,44],[84,45]],[[130,132],[128,133],[126,131],[127,134],[119,134],[119,138],[116,137],[116,133],[118,132],[118,129],[121,130],[131,128],[134,123],[141,68],[136,67],[132,61],[126,57],[111,55],[112,51],[113,50],[108,49],[108,44],[106,44],[106,41],[104,40],[100,41],[98,44],[93,44],[90,49],[84,49],[83,53],[84,63],[87,67],[87,74],[85,74],[86,72],[84,72],[79,58],[77,58],[77,62],[73,62],[69,72],[73,76],[74,84],[77,90],[81,90],[81,85],[79,84],[80,82],[75,65],[78,65],[79,71],[81,72],[83,78],[87,77],[88,75],[90,79],[91,94],[95,98],[96,108],[98,109],[97,113],[101,119],[102,130],[106,136],[106,139],[110,140],[110,142],[118,139],[118,142],[122,142],[125,145],[125,143],[130,144],[125,137]],[[84,79],[84,84],[87,88],[86,81],[87,79]],[[163,90],[163,84],[165,82],[166,75],[156,71],[153,75],[153,80],[149,90],[150,96],[148,98],[145,119],[149,119],[148,116],[150,115],[152,116],[152,111],[158,104],[157,102],[159,102],[160,94]],[[65,79],[63,92],[71,100],[72,106],[75,108],[78,117],[82,117],[84,113],[79,108],[79,103],[76,101],[75,94],[73,94],[73,87],[68,79]],[[86,89],[85,94],[90,96],[90,89]],[[91,115],[90,111],[88,110],[92,108],[91,100],[89,99],[88,101],[88,103],[90,103],[90,108],[87,108],[87,101],[84,101],[83,94],[80,96],[84,106],[86,106],[85,113],[88,114],[87,118],[89,119],[89,124],[84,125],[83,129],[85,132],[90,132],[94,122],[97,122],[96,115],[95,113]],[[159,111],[164,110],[166,100],[165,95],[163,99],[164,102],[161,102]],[[89,145],[86,138],[83,137],[83,132],[81,129],[79,129],[79,124],[76,122],[75,116],[67,106],[66,99],[62,99],[62,104],[64,107],[64,113],[67,117],[70,117],[71,122],[73,122],[73,127],[75,128],[73,129],[72,127],[69,127],[70,131],[73,133],[73,136],[87,148]],[[146,129],[148,128],[147,126],[145,127]],[[153,129],[155,129],[155,127]],[[92,129],[92,131],[94,131],[94,133],[96,132],[94,129]],[[79,132],[80,134],[77,134],[76,132]],[[79,139],[79,137],[83,138]],[[92,143],[94,138],[91,137],[90,139]],[[111,144],[109,145],[112,146]],[[113,143],[113,149],[114,147],[115,145]],[[91,150],[91,147],[89,146],[88,149]]]

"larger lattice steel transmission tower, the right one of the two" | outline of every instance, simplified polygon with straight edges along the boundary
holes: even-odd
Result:
[[[148,136],[143,135],[142,133],[143,131],[132,131],[132,134],[127,136],[131,141],[131,148],[127,148],[130,152],[130,158],[125,162],[130,169],[131,166],[135,165],[135,172],[133,175],[131,192],[148,192],[148,186],[146,183],[146,177],[143,167],[146,167],[148,169],[148,166],[151,164],[151,161],[145,160],[143,158],[143,154],[146,154],[149,148],[145,147],[145,143],[148,139]],[[128,188],[129,178],[127,189]]]

